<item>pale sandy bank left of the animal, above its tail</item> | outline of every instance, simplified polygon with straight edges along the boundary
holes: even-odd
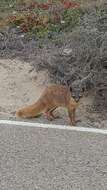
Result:
[[[36,101],[46,77],[43,72],[37,77],[29,63],[0,60],[0,117],[12,116],[19,107]]]

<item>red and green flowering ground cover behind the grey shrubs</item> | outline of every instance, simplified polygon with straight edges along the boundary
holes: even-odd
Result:
[[[15,3],[12,5],[15,8]],[[35,34],[37,37],[48,36],[71,30],[79,23],[83,12],[80,4],[69,0],[17,4],[13,14],[2,20],[3,26],[16,26],[23,33]],[[1,24],[2,26],[2,24]]]

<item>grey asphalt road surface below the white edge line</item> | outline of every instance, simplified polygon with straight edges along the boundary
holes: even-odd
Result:
[[[107,135],[0,125],[0,190],[107,190]]]

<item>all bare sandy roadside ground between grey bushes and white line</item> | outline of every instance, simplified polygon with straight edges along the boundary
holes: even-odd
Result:
[[[48,73],[36,73],[30,63],[17,59],[0,59],[0,119],[16,119],[15,111],[25,105],[35,102],[44,88],[50,84]],[[89,108],[92,105],[91,96],[84,97],[77,109],[77,125],[86,127],[107,127],[107,113],[94,113]],[[51,123],[68,124],[68,115],[65,109],[58,109],[56,114],[60,119]],[[22,119],[21,119],[22,120]],[[43,116],[30,119],[32,122],[50,123]]]

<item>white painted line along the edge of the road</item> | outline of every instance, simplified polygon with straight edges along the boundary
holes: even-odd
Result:
[[[90,132],[107,135],[107,129],[97,129],[97,128],[86,128],[86,127],[74,127],[66,125],[54,125],[54,124],[43,124],[43,123],[30,123],[22,121],[11,121],[11,120],[0,120],[0,124],[3,125],[15,125],[15,126],[25,126],[25,127],[37,127],[37,128],[50,128],[50,129],[64,129],[69,131],[80,131],[80,132]]]

